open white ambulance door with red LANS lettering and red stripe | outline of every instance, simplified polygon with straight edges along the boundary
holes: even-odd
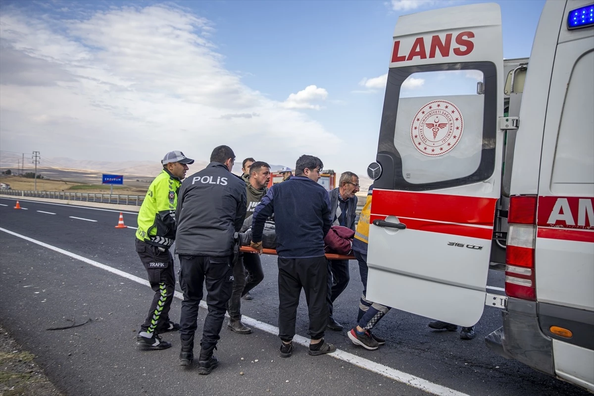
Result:
[[[471,326],[481,318],[501,192],[497,4],[398,18],[369,227],[367,297]]]

